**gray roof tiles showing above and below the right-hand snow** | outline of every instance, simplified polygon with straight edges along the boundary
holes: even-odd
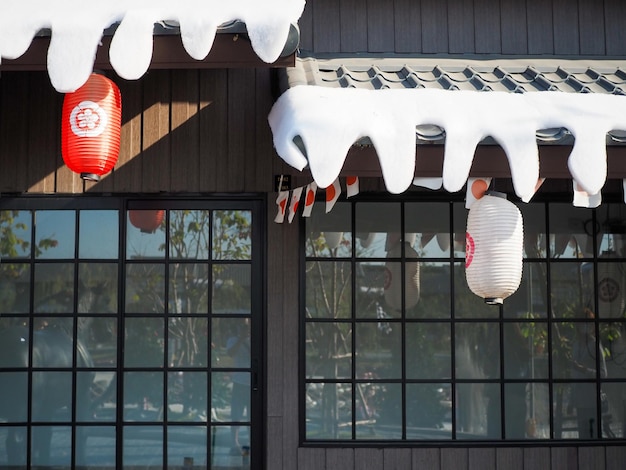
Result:
[[[502,57],[333,57],[299,58],[287,71],[288,86],[335,88],[434,88],[528,93],[626,94],[626,61]],[[417,129],[422,141],[445,138],[442,129]],[[537,133],[544,144],[571,143],[566,129]],[[487,139],[483,143],[490,143]],[[626,135],[609,133],[607,144],[624,144]]]

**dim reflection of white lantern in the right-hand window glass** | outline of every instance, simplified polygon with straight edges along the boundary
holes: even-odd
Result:
[[[400,258],[401,244],[396,243],[388,252],[389,258]],[[418,257],[408,243],[404,244],[404,308],[414,307],[420,298],[420,266],[417,261],[408,261]],[[402,263],[389,261],[385,264],[385,302],[396,311],[402,311]]]

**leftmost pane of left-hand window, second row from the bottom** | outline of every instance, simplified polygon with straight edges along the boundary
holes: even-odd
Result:
[[[0,333],[1,335],[1,333]],[[1,344],[1,343],[0,343]],[[0,346],[1,367],[6,367],[6,345]],[[14,361],[10,361],[14,362]],[[28,419],[28,373],[0,372],[0,420],[7,423],[23,423]]]

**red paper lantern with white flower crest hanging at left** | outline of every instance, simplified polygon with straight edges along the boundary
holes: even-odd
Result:
[[[122,97],[103,75],[92,73],[87,82],[63,99],[61,152],[70,170],[81,178],[99,181],[113,169],[120,151]]]

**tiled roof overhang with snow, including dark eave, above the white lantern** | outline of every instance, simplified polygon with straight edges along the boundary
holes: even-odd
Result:
[[[382,175],[458,191],[508,176],[528,201],[540,177],[589,194],[626,177],[623,61],[484,58],[300,59],[269,116],[278,154],[321,187]]]

